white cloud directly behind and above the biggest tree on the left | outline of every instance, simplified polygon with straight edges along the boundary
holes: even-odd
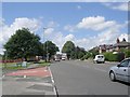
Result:
[[[37,31],[41,25],[41,22],[36,18],[15,18],[15,20],[11,25],[5,25],[4,20],[0,22],[2,26],[0,26],[0,54],[3,52],[3,44],[11,38],[12,34],[15,33],[17,29],[23,27],[28,28],[31,32]]]

